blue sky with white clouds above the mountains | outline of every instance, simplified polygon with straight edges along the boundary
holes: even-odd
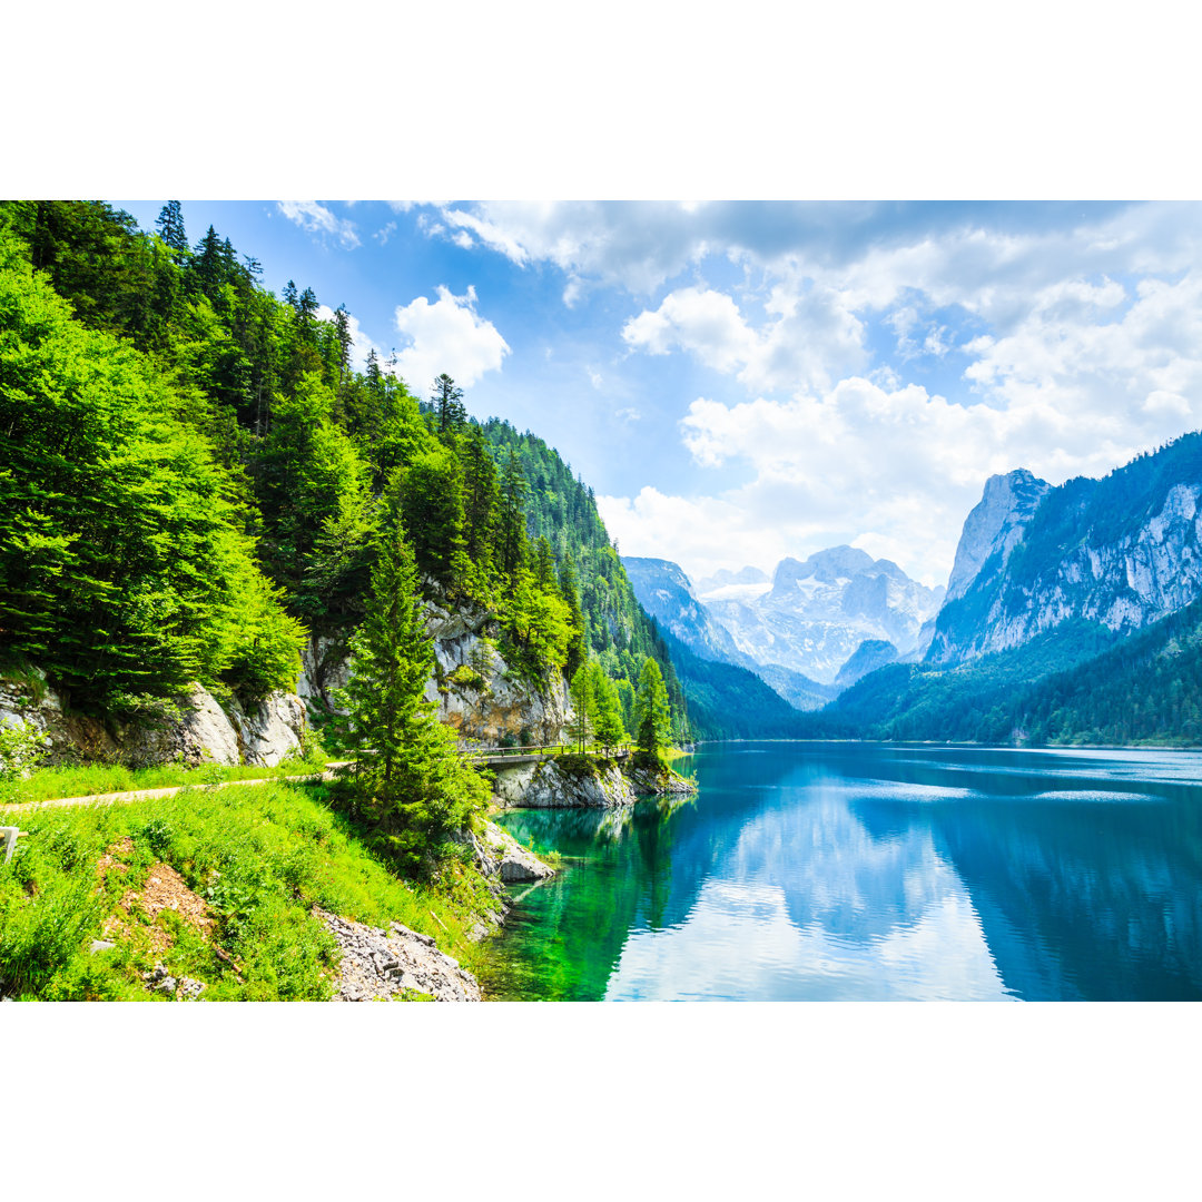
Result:
[[[1195,204],[183,203],[694,577],[851,542],[946,583],[989,475],[1202,426]]]

